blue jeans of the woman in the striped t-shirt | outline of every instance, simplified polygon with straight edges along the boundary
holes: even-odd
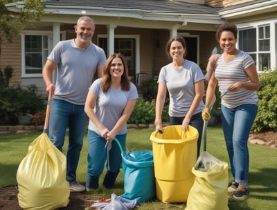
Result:
[[[224,138],[231,164],[231,172],[246,187],[249,173],[248,138],[258,112],[255,104],[242,104],[236,108],[221,106]]]

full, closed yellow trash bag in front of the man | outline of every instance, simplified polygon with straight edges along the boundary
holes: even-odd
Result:
[[[42,133],[29,146],[17,169],[18,201],[22,209],[57,209],[69,204],[66,157]]]

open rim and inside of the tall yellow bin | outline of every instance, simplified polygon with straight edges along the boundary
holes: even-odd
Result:
[[[157,143],[181,144],[184,142],[195,142],[199,133],[193,126],[188,126],[187,131],[183,131],[181,125],[166,126],[163,133],[152,132],[150,140]]]

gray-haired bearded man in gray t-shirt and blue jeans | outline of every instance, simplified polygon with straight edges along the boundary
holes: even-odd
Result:
[[[66,180],[71,191],[84,191],[76,181],[76,170],[82,149],[87,115],[84,102],[94,74],[102,77],[106,56],[102,48],[91,42],[95,29],[90,17],[80,17],[75,26],[76,38],[60,41],[47,57],[42,70],[46,91],[53,95],[49,117],[49,138],[62,151],[64,136],[69,127],[69,146],[66,152]],[[55,85],[53,71],[57,67]]]

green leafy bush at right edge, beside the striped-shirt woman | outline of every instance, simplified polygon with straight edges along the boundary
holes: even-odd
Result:
[[[277,69],[259,74],[259,80],[259,108],[252,131],[277,131]]]

